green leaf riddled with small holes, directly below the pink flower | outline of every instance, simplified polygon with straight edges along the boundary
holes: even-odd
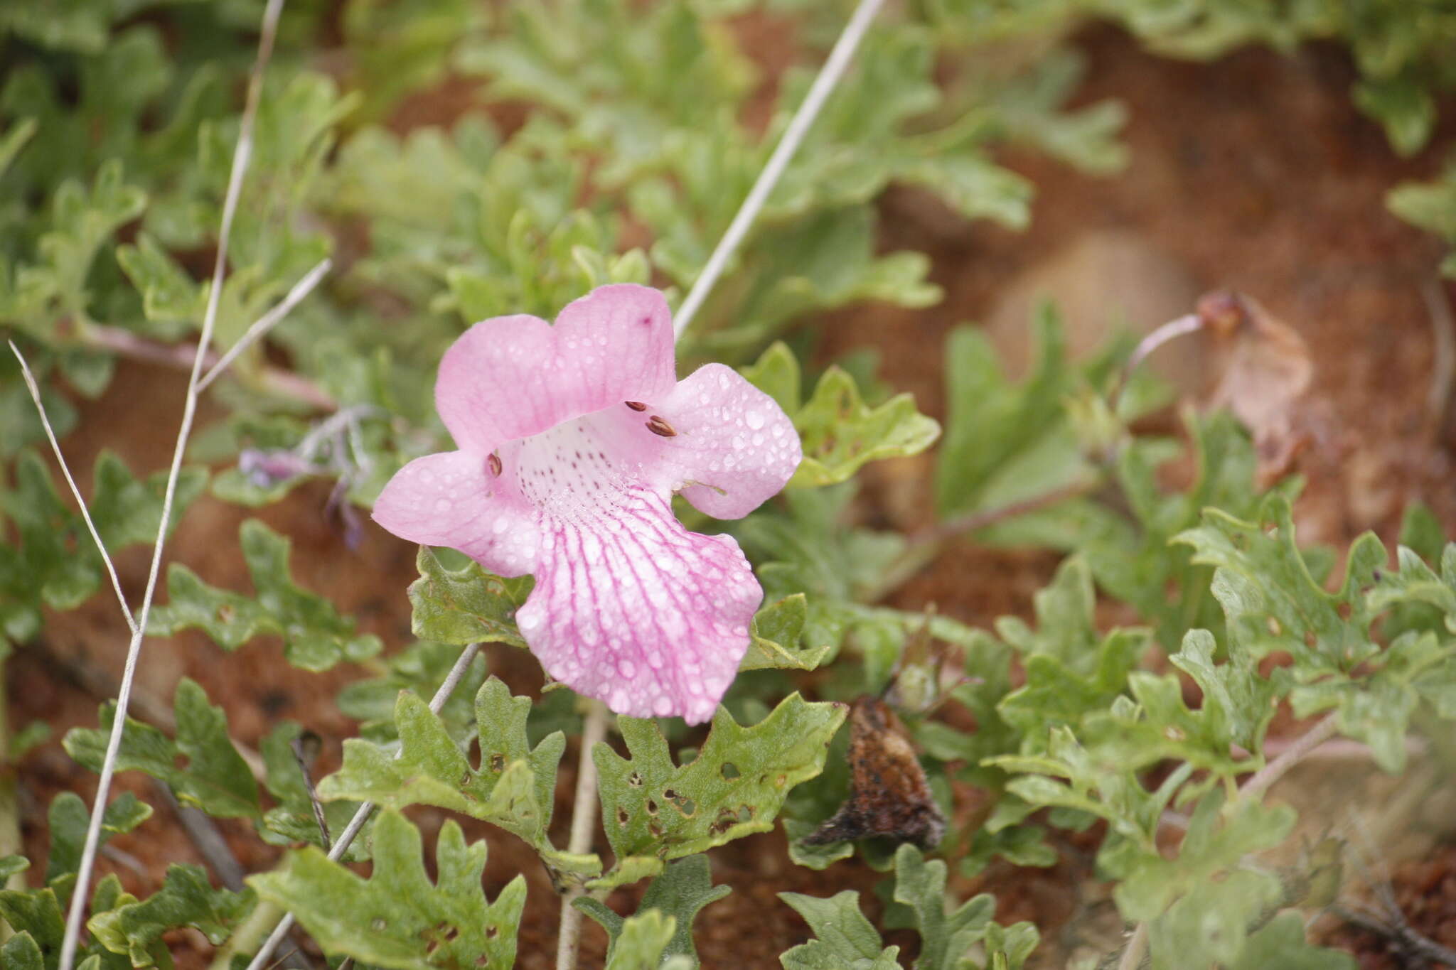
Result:
[[[722,707],[697,750],[676,766],[651,720],[620,717],[628,758],[601,745],[597,763],[601,816],[619,859],[674,859],[753,832],[767,832],[794,785],[824,769],[843,704],[785,698],[764,720],[741,727]]]

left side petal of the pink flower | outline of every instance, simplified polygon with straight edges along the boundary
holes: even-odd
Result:
[[[374,521],[421,545],[457,548],[498,576],[536,569],[539,513],[510,477],[466,451],[415,458],[374,502]]]

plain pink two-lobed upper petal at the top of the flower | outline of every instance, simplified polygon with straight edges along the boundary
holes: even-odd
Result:
[[[435,409],[456,444],[489,452],[610,404],[673,388],[673,318],[649,286],[598,286],[556,326],[517,314],[475,324],[446,352]]]

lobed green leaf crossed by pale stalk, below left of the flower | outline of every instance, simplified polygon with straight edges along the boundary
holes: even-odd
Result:
[[[395,707],[397,753],[393,746],[363,739],[344,742],[344,766],[319,782],[319,797],[374,801],[386,809],[440,806],[552,851],[546,829],[566,737],[556,731],[533,750],[526,739],[530,710],[530,698],[511,697],[505,684],[488,679],[475,698],[480,766],[472,768],[440,717],[419,697],[402,691]]]

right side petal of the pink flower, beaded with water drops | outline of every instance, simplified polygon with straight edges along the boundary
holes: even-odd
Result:
[[[683,497],[718,519],[738,519],[778,494],[804,457],[778,401],[731,366],[708,364],[657,403],[677,432],[662,439],[662,471]],[[671,487],[671,486],[670,486]]]

